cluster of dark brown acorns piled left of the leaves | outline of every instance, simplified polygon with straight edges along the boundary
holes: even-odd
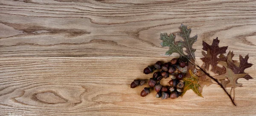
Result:
[[[154,88],[157,92],[156,97],[161,99],[172,98],[175,99],[179,97],[183,91],[184,87],[184,73],[179,69],[184,69],[187,66],[186,58],[173,58],[170,62],[163,63],[161,61],[157,61],[154,65],[148,66],[143,70],[144,74],[150,74],[154,72],[153,77],[148,80],[148,86],[145,87],[141,93],[141,97],[145,97],[150,93],[150,89]],[[160,80],[163,78],[170,77],[169,86],[162,86],[160,84]],[[145,83],[145,80],[134,80],[131,83],[131,88],[135,88],[137,86],[142,86]]]

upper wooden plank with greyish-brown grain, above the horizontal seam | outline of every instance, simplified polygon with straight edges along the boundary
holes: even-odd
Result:
[[[0,56],[164,56],[160,33],[181,23],[194,45],[219,37],[239,53],[254,52],[254,0],[1,0]],[[177,38],[177,40],[179,40]],[[247,47],[244,47],[247,46]],[[201,55],[201,51],[196,51]]]

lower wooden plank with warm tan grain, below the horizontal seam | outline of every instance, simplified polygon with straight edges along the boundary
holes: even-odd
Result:
[[[254,115],[256,80],[239,79],[234,107],[218,85],[198,97],[189,90],[182,98],[156,99],[155,91],[140,97],[148,79],[143,68],[168,57],[28,57],[1,58],[2,115]],[[199,60],[199,59],[197,59]],[[255,58],[250,62],[255,64]],[[253,72],[255,67],[247,69]],[[255,77],[255,73],[250,74]],[[161,83],[167,84],[169,79]],[[206,112],[207,111],[207,112]]]

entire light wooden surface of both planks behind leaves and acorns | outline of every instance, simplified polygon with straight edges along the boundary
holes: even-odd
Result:
[[[160,33],[181,23],[198,34],[199,64],[216,37],[256,64],[254,0],[0,0],[0,115],[256,115],[255,79],[239,79],[237,107],[215,84],[166,100],[130,88],[171,59]]]

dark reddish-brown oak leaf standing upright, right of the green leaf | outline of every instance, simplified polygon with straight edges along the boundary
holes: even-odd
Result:
[[[217,66],[218,61],[225,61],[226,58],[218,58],[218,55],[226,53],[227,46],[225,47],[219,47],[219,40],[218,37],[216,39],[213,39],[212,45],[207,44],[205,41],[203,41],[203,50],[207,51],[207,54],[203,52],[204,57],[201,58],[201,60],[206,65],[212,66],[212,72],[215,74],[223,72],[224,67]]]

